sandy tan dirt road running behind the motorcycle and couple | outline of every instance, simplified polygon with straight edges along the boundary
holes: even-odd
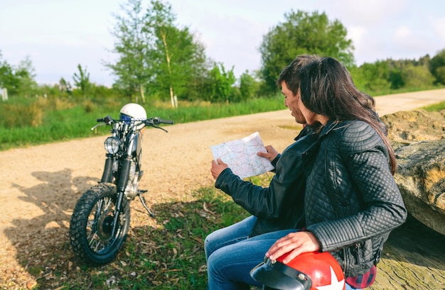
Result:
[[[445,101],[445,89],[376,98],[380,116],[439,101]],[[193,189],[213,184],[211,145],[258,131],[265,145],[281,151],[300,128],[289,110],[282,110],[177,124],[168,133],[146,130],[141,188],[152,193],[151,204],[190,200]],[[102,174],[103,141],[100,136],[0,152],[1,289],[36,279],[18,258],[28,249],[40,245],[45,251],[45,243],[65,239],[77,199]]]

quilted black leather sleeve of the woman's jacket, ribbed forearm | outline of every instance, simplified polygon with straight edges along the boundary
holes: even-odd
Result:
[[[341,130],[339,130],[341,131]],[[363,122],[336,133],[336,166],[331,168],[336,219],[308,227],[323,251],[336,250],[390,232],[404,223],[407,210],[388,166],[387,149],[379,135]],[[328,162],[328,161],[326,161]],[[342,196],[343,194],[343,196]],[[349,199],[349,200],[348,200]],[[358,199],[356,206],[350,199]],[[334,205],[335,206],[335,205]]]

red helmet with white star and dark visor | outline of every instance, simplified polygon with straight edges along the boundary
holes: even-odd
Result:
[[[265,258],[250,271],[250,276],[263,284],[263,289],[279,290],[344,290],[345,277],[337,260],[328,252],[304,252],[284,264],[289,253],[276,262]]]

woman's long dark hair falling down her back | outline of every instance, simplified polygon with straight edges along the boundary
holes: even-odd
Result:
[[[382,138],[390,155],[392,174],[397,168],[387,130],[375,111],[372,96],[359,91],[341,62],[321,57],[301,68],[301,101],[313,113],[333,121],[360,120],[368,123]]]

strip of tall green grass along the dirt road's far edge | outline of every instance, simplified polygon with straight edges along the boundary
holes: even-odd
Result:
[[[97,124],[97,118],[107,115],[118,118],[119,109],[126,103],[112,99],[44,98],[11,99],[0,103],[0,150],[108,134],[109,128],[105,126],[94,131],[90,128]],[[144,107],[148,117],[159,116],[175,123],[284,109],[281,96],[230,105],[182,102],[172,109],[168,104],[154,102]]]

